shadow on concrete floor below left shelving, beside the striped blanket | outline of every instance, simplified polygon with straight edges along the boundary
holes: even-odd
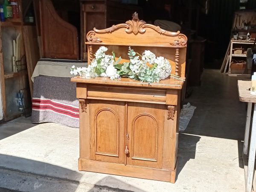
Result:
[[[38,124],[33,124],[31,122],[31,117],[26,118],[25,116],[0,124],[0,140],[21,131],[25,131],[26,129],[32,128],[36,125]]]

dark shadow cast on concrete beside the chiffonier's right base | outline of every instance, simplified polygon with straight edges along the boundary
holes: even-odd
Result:
[[[195,159],[196,144],[201,137],[179,133],[178,167],[176,179],[190,159]]]

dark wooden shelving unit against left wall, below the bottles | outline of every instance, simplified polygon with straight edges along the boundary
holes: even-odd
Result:
[[[15,119],[24,113],[19,109],[18,93],[20,90],[29,91],[21,0],[18,0],[18,4],[20,18],[7,18],[0,22],[0,120],[4,121]],[[18,52],[16,59],[15,52]]]

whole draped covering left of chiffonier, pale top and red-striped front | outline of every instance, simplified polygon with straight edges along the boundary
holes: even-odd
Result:
[[[32,122],[55,122],[79,128],[76,83],[70,82],[70,68],[84,63],[43,59],[33,73]],[[56,76],[55,76],[56,75]]]

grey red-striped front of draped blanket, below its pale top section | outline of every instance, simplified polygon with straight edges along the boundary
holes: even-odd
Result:
[[[79,128],[76,83],[70,77],[36,76],[32,98],[32,122],[55,122]]]

